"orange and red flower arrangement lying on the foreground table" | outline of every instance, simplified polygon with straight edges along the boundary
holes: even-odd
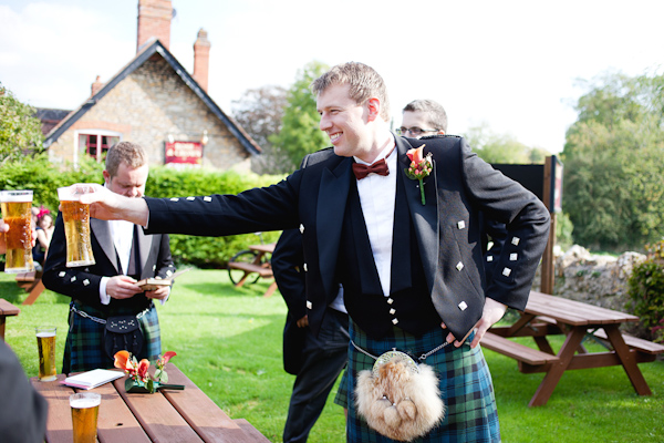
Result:
[[[165,387],[165,383],[168,383],[168,374],[164,370],[164,367],[168,363],[168,360],[175,356],[177,356],[177,353],[173,351],[164,353],[163,357],[159,356],[159,359],[155,363],[157,369],[155,370],[154,375],[151,375],[147,371],[149,368],[149,361],[147,359],[138,361],[136,357],[132,356],[128,351],[116,352],[115,356],[113,356],[115,358],[113,365],[129,374],[125,382],[127,392],[154,393],[159,387]],[[173,385],[169,387],[173,388]]]

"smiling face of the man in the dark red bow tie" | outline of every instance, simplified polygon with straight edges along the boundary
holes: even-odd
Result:
[[[330,137],[334,154],[363,158],[372,146],[369,123],[373,119],[369,102],[355,103],[349,90],[347,84],[333,84],[318,95],[320,128]]]

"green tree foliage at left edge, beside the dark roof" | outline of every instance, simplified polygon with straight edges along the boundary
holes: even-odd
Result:
[[[43,151],[41,122],[34,107],[21,103],[0,83],[0,163]]]

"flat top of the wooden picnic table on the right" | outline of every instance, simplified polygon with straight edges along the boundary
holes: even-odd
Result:
[[[562,297],[530,291],[525,311],[570,326],[612,324],[639,321],[639,317]]]

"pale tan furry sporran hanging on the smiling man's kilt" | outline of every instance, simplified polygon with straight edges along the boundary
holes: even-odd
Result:
[[[373,370],[357,374],[355,399],[372,429],[400,442],[426,434],[445,416],[432,367],[398,351],[382,354]]]

